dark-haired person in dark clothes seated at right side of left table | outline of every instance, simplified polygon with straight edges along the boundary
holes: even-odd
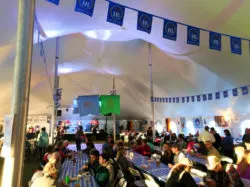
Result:
[[[82,168],[84,170],[92,170],[94,174],[96,174],[97,168],[99,167],[99,151],[96,149],[92,149],[89,153],[89,163],[84,165]]]

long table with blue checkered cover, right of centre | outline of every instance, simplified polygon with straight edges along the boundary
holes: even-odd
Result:
[[[148,162],[148,157],[145,157],[143,155],[140,155],[139,153],[136,153],[134,151],[132,151],[132,153],[134,154],[133,157],[130,158],[129,154],[128,154],[128,160],[138,169],[140,169],[141,171],[148,173],[150,175],[152,175],[154,178],[158,179],[159,181],[162,182],[166,182],[167,181],[167,176],[168,173],[170,172],[170,168],[163,164],[160,163],[158,166],[156,165],[156,162]],[[147,163],[147,167],[143,167],[143,165]],[[197,184],[199,184],[200,182],[203,182],[203,179],[196,176],[196,175],[192,175],[193,179],[196,181]]]

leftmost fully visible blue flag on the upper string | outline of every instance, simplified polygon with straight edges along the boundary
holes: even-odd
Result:
[[[125,14],[124,6],[113,3],[111,1],[109,2],[109,10],[108,10],[108,16],[107,16],[108,22],[122,26],[124,14]]]

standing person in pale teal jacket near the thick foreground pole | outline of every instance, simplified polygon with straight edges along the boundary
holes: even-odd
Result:
[[[39,147],[39,153],[40,153],[40,160],[43,159],[43,156],[46,152],[46,149],[49,145],[49,135],[46,132],[46,128],[43,127],[41,129],[42,131],[39,133],[37,140],[38,140],[38,147]]]

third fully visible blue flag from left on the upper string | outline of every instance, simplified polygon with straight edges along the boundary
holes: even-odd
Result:
[[[163,38],[176,41],[177,38],[177,23],[165,19],[163,25]]]

